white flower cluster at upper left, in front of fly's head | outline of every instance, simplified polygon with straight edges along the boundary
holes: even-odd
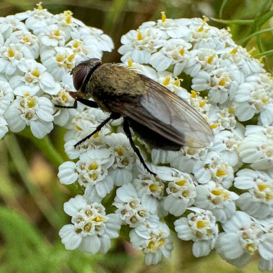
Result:
[[[41,3],[32,11],[0,17],[0,138],[30,126],[42,138],[53,124],[69,125],[70,75],[76,62],[101,58],[113,42],[67,10],[52,14]]]

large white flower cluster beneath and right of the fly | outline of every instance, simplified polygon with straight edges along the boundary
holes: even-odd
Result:
[[[196,257],[216,249],[227,262],[241,267],[259,254],[260,270],[272,270],[272,79],[228,31],[210,27],[206,20],[172,20],[163,13],[161,20],[143,23],[121,41],[119,52],[129,69],[190,103],[213,129],[213,143],[166,152],[135,137],[145,161],[151,159],[148,166],[157,174],[153,177],[130,149],[119,121],[74,149],[73,144],[105,119],[101,110],[81,110],[70,121],[65,145],[69,158],[78,159],[60,166],[61,183],[77,181],[89,205],[104,198],[113,202],[147,265],[170,257],[168,226],[174,224],[178,238],[193,241]],[[174,223],[167,221],[168,214],[176,217]],[[73,233],[66,241],[66,233],[60,232],[68,249],[70,242],[78,247],[79,236],[85,238],[83,232]]]

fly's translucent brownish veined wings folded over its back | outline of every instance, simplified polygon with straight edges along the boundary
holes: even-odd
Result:
[[[143,75],[148,91],[139,101],[112,101],[111,109],[130,117],[175,143],[202,148],[209,144],[213,133],[205,119],[186,101],[169,89]]]

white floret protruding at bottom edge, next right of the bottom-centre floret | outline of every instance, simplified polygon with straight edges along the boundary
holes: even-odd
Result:
[[[218,234],[216,219],[208,210],[191,212],[187,218],[182,217],[174,222],[175,231],[181,240],[193,240],[193,254],[202,257],[213,249]]]

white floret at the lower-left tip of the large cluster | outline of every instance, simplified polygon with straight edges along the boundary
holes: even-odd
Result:
[[[78,248],[92,254],[106,253],[111,245],[110,239],[119,236],[119,216],[113,213],[106,215],[101,204],[87,203],[77,195],[65,203],[64,210],[72,217],[72,224],[63,226],[59,235],[68,250]]]

